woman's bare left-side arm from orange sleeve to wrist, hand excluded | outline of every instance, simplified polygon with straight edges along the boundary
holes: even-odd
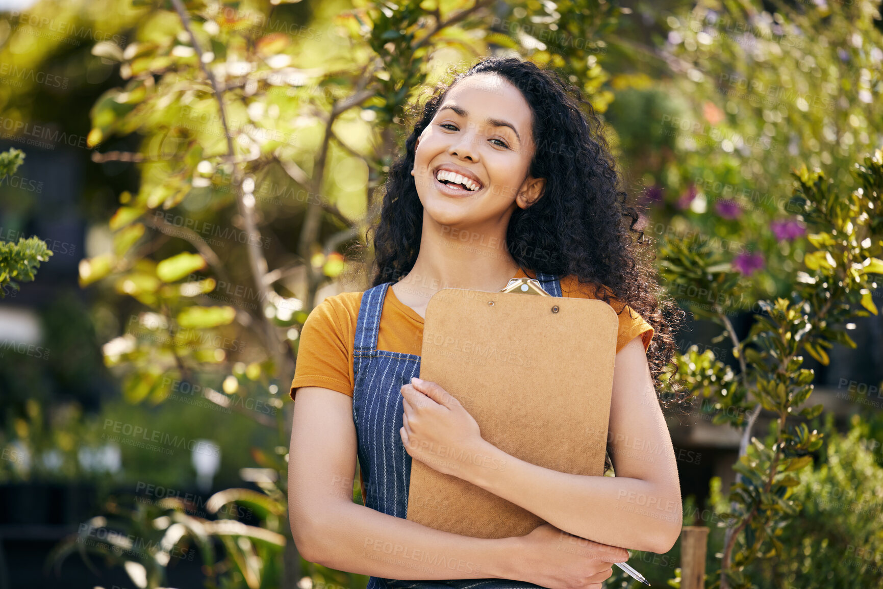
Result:
[[[440,532],[352,502],[356,469],[352,398],[297,391],[289,454],[289,514],[298,551],[336,570],[396,579],[517,578],[520,539]]]

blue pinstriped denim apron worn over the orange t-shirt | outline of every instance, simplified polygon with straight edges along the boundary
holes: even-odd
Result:
[[[537,280],[550,295],[562,296],[557,276],[537,272]],[[404,450],[399,434],[404,412],[401,389],[411,382],[412,376],[419,376],[420,357],[377,350],[383,299],[392,284],[378,284],[362,295],[354,337],[352,419],[358,436],[358,464],[366,506],[405,518],[411,457]],[[424,563],[414,561],[414,564]],[[413,581],[372,577],[367,589],[527,589],[538,586],[497,578]]]

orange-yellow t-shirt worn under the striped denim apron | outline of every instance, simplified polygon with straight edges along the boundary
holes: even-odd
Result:
[[[518,270],[514,278],[535,278],[528,270]],[[580,284],[576,276],[561,279],[565,297],[595,298],[592,286]],[[358,309],[361,292],[342,292],[322,300],[306,318],[300,333],[298,363],[291,381],[291,398],[298,387],[324,387],[352,396],[355,377],[352,373]],[[644,349],[653,339],[653,327],[630,306],[612,298],[611,305],[619,314],[619,332],[616,351],[632,339],[641,336]],[[377,334],[377,349],[398,351],[419,356],[423,347],[423,318],[396,298],[391,288],[383,300],[381,323]]]

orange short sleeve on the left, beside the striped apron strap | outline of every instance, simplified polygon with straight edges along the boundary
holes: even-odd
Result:
[[[291,398],[298,387],[324,387],[352,396],[349,331],[331,298],[324,299],[306,318],[300,331],[298,360],[291,381]]]

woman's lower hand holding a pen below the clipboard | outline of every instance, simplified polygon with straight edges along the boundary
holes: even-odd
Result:
[[[601,589],[613,574],[612,563],[629,559],[625,548],[599,544],[543,524],[512,538],[517,549],[509,577],[548,589]]]

